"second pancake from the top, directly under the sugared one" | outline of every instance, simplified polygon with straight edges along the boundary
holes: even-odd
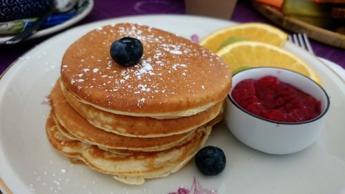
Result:
[[[180,117],[179,119],[132,117],[108,113],[93,106],[83,104],[74,95],[69,93],[63,84],[61,84],[61,88],[63,95],[72,108],[77,110],[90,124],[108,132],[128,137],[164,137],[187,133],[217,117],[223,104],[222,101],[218,102],[208,110],[189,117]],[[56,90],[57,93],[60,93],[60,89]]]

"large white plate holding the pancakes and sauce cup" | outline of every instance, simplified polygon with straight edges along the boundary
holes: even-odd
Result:
[[[308,52],[286,43],[284,48],[310,64],[331,97],[326,126],[317,142],[292,155],[268,155],[241,144],[224,124],[215,126],[207,144],[219,146],[226,169],[216,177],[201,175],[193,161],[168,177],[128,186],[72,165],[48,143],[45,133],[50,107],[43,103],[59,77],[66,48],[86,32],[110,23],[133,22],[175,32],[186,38],[233,25],[204,17],[153,15],[110,19],[61,33],[23,55],[0,80],[0,175],[13,193],[170,193],[190,188],[193,177],[217,193],[342,193],[345,191],[345,87],[335,73]],[[193,192],[191,192],[193,193]]]

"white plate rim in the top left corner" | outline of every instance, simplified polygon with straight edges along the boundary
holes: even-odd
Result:
[[[44,37],[46,35],[50,35],[52,33],[59,32],[60,30],[68,28],[69,26],[72,26],[73,24],[77,23],[78,21],[81,21],[81,19],[86,17],[91,12],[91,10],[93,8],[93,4],[94,4],[93,0],[86,0],[86,1],[88,1],[88,4],[86,4],[86,7],[83,8],[83,10],[80,13],[78,13],[75,17],[72,17],[71,19],[69,19],[63,23],[60,23],[56,26],[52,26],[50,28],[39,30],[37,33],[35,33],[31,37],[28,37],[28,39],[35,39],[38,37]],[[0,44],[4,43],[5,41],[7,41],[8,39],[11,39],[11,38],[12,37],[0,37]]]

